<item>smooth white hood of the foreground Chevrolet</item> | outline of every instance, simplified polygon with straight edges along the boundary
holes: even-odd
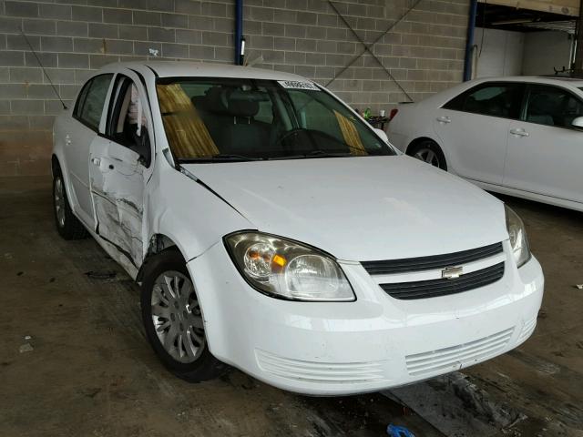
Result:
[[[338,259],[437,255],[508,237],[502,202],[405,156],[184,167],[257,229]]]

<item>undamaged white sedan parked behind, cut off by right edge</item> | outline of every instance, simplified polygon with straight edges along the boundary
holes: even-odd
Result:
[[[583,80],[478,79],[392,113],[407,155],[489,191],[583,211]]]

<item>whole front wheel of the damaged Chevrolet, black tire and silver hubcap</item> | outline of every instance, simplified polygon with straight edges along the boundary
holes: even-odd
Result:
[[[176,376],[200,382],[217,378],[228,369],[210,353],[196,290],[177,249],[163,250],[148,262],[141,309],[152,349]]]

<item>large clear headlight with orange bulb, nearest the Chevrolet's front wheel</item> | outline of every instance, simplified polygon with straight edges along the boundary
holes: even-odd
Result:
[[[251,286],[288,300],[355,300],[338,263],[318,249],[260,232],[225,237],[230,257]]]

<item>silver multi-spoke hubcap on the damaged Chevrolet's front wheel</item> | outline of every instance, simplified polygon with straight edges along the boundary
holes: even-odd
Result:
[[[151,304],[154,329],[164,349],[176,361],[196,361],[206,340],[192,281],[179,271],[165,271],[154,282]]]

